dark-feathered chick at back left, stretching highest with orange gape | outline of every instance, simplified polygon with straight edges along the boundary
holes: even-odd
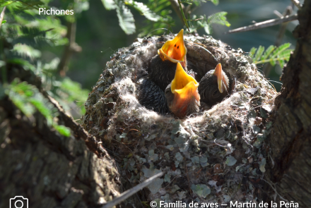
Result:
[[[151,59],[151,69],[146,78],[141,78],[138,82],[139,103],[160,114],[169,111],[166,104],[164,90],[172,82],[177,63],[186,66],[187,49],[184,45],[184,30],[180,30],[178,35],[163,44],[158,49],[158,55]]]

